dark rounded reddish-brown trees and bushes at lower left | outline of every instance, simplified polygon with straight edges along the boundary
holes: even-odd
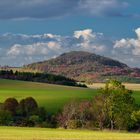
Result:
[[[0,125],[56,127],[56,122],[53,115],[39,107],[34,98],[27,97],[19,102],[8,98],[0,104]]]

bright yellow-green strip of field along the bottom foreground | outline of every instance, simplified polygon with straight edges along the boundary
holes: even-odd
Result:
[[[127,132],[0,127],[0,140],[140,140]]]

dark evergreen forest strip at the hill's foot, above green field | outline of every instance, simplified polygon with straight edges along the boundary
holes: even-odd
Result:
[[[0,78],[67,85],[67,86],[86,87],[86,85],[78,84],[73,79],[61,75],[54,75],[48,73],[32,73],[32,72],[18,72],[18,71],[13,72],[13,70],[0,70]]]

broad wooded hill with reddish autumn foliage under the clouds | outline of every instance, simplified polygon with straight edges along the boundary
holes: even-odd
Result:
[[[116,78],[123,82],[140,83],[140,69],[89,52],[74,51],[57,58],[26,65],[24,69],[63,75],[84,82],[104,82]]]

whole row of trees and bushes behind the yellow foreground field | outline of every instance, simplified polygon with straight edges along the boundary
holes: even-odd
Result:
[[[140,105],[132,91],[110,80],[91,100],[71,101],[56,114],[39,107],[35,99],[8,98],[0,104],[0,125],[140,131]]]

